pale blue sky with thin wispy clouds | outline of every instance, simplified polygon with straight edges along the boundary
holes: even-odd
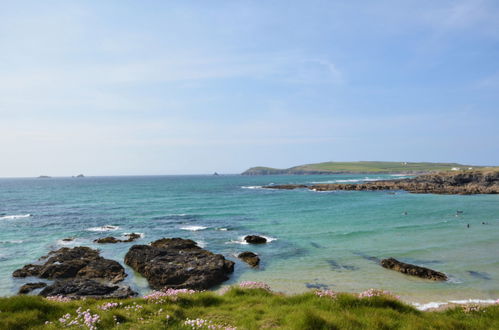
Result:
[[[499,165],[499,2],[0,0],[0,177]]]

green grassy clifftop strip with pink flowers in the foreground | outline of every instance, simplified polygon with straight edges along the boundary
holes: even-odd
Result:
[[[102,310],[106,303],[121,305]],[[224,295],[192,295],[145,300],[80,300],[54,302],[38,296],[0,298],[1,329],[61,329],[89,309],[99,316],[96,329],[208,329],[185,324],[186,319],[211,321],[238,329],[499,329],[499,305],[465,311],[420,312],[389,296],[359,299],[314,293],[285,296],[263,289],[232,288]],[[67,320],[59,319],[66,314]],[[46,322],[50,322],[46,324]],[[73,326],[73,328],[81,328]],[[85,328],[85,327],[84,327]],[[88,328],[88,327],[87,327]]]

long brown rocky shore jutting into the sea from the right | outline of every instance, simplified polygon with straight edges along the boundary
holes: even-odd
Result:
[[[417,194],[498,194],[499,171],[463,171],[424,174],[412,179],[384,180],[359,184],[286,184],[264,186],[267,189],[333,190],[405,190]]]

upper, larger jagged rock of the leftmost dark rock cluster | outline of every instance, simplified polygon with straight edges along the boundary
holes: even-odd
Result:
[[[92,278],[117,283],[126,274],[114,260],[104,259],[88,247],[61,248],[40,258],[41,264],[29,264],[14,271],[14,277],[36,276],[46,279]]]

